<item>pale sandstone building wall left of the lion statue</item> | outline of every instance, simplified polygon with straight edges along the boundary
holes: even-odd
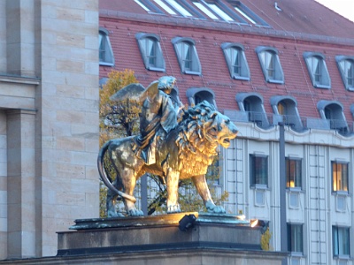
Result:
[[[98,0],[0,1],[0,260],[98,216]]]

